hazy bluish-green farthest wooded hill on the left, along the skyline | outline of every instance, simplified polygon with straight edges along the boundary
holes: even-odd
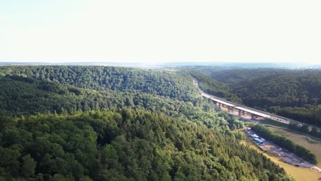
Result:
[[[0,67],[2,75],[21,75],[34,80],[58,82],[92,90],[149,93],[183,101],[195,98],[191,77],[174,73],[124,67],[12,66]]]

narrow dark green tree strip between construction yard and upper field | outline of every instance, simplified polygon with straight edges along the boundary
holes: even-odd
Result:
[[[313,164],[318,163],[318,160],[316,158],[316,154],[311,153],[309,149],[306,149],[305,147],[302,147],[301,145],[297,145],[296,143],[289,140],[285,136],[275,134],[274,132],[272,132],[272,130],[264,127],[261,124],[252,125],[251,128],[254,132],[257,132],[257,134],[259,134],[263,138],[266,138],[269,141],[274,142],[276,145],[279,145],[279,146],[289,150],[289,152],[293,152],[294,154],[300,156],[301,158],[304,158],[305,160],[308,160],[309,162],[311,162]]]

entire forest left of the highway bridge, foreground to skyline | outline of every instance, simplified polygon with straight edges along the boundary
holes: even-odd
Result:
[[[0,67],[0,180],[290,180],[191,77]]]

